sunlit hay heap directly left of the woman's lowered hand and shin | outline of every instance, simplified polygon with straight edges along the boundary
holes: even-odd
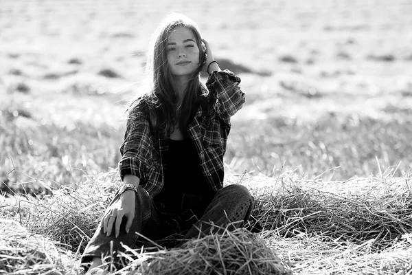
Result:
[[[61,186],[52,195],[31,203],[21,220],[29,230],[82,253],[117,190],[114,177],[118,174],[102,173],[81,188]]]

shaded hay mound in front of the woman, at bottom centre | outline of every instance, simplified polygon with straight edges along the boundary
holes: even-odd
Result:
[[[140,254],[142,274],[290,274],[263,239],[238,229],[187,241],[181,248]]]

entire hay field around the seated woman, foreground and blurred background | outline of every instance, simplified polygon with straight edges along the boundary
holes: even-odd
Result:
[[[411,274],[406,0],[1,0],[0,272],[80,274],[76,260],[119,184],[124,104],[172,10],[195,19],[247,94],[226,181],[254,192],[264,231],[216,238],[263,241],[279,274]],[[135,255],[148,259],[133,260],[135,273],[176,255],[187,266],[192,245]],[[214,272],[231,274],[225,261]]]

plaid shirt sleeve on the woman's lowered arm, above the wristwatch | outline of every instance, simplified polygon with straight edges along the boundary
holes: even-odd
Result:
[[[148,179],[148,164],[150,162],[150,125],[141,105],[137,105],[129,115],[126,123],[124,142],[120,147],[122,159],[119,162],[120,177],[135,175],[142,182]]]

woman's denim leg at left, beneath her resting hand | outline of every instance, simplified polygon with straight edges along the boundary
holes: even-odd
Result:
[[[129,233],[127,233],[125,229],[127,222],[126,217],[122,220],[119,236],[117,236],[117,238],[115,237],[114,228],[112,234],[110,236],[106,236],[103,232],[103,220],[100,221],[95,234],[87,244],[87,247],[82,254],[82,263],[89,263],[93,257],[100,257],[102,255],[112,256],[113,259],[117,261],[117,252],[124,251],[124,248],[122,248],[120,242],[124,245],[128,245],[130,248],[134,248],[137,242],[141,241],[141,238],[139,238],[135,232],[139,232],[149,239],[163,238],[157,211],[153,206],[148,192],[141,186],[139,186],[137,190],[138,192],[135,200],[135,218],[133,219]],[[119,197],[120,196],[116,194],[113,201],[111,201],[111,204],[117,201]]]

